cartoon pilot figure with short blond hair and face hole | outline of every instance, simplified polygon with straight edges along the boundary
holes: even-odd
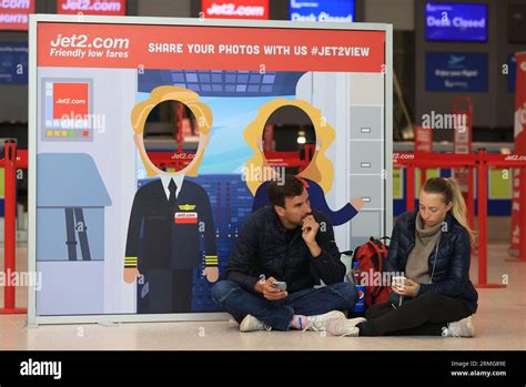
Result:
[[[158,108],[154,112],[169,113],[164,115],[172,114],[183,104],[191,112],[192,124],[196,126],[194,132],[199,133],[199,145],[190,153],[191,161],[175,172],[155,166],[144,145],[146,119],[162,103],[169,103],[169,109]],[[176,121],[175,113],[172,115],[169,121]],[[209,282],[216,282],[219,276],[209,195],[202,186],[185,179],[198,173],[210,140],[212,112],[199,102],[199,94],[193,91],[160,86],[151,92],[148,100],[133,108],[131,119],[133,140],[146,174],[160,179],[144,184],[135,193],[128,227],[124,281],[133,283],[139,277],[138,313],[188,313],[191,312],[194,269],[204,259],[202,274]],[[179,115],[181,131],[188,121],[188,118]]]

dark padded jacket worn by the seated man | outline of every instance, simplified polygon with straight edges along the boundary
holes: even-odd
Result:
[[[254,212],[232,251],[225,279],[253,292],[261,275],[265,278],[272,276],[286,282],[290,293],[312,287],[318,279],[327,285],[342,282],[345,265],[340,261],[333,226],[324,214],[313,211],[313,215],[321,225],[316,242],[322,253],[315,258],[303,241],[301,227],[291,232],[292,236],[287,238],[272,207]]]

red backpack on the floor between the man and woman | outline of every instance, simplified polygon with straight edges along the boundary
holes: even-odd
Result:
[[[386,303],[391,294],[391,286],[383,286],[382,272],[384,261],[387,257],[387,246],[381,240],[390,240],[384,236],[378,240],[370,237],[368,242],[354,249],[353,262],[358,263],[357,275],[362,282],[367,278],[365,286],[365,306]],[[364,275],[366,273],[366,275]],[[360,283],[357,284],[360,285]]]

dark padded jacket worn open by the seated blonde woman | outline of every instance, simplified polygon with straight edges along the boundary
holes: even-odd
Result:
[[[405,272],[407,258],[415,246],[416,214],[418,210],[398,216],[393,230],[384,272]],[[447,213],[438,245],[435,265],[435,249],[427,265],[429,275],[435,272],[431,284],[421,284],[418,296],[427,292],[441,293],[459,298],[472,313],[477,309],[478,294],[469,281],[471,247],[469,235],[451,214]]]

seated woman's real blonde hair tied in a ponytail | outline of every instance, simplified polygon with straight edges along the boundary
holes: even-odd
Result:
[[[441,194],[444,197],[444,203],[452,203],[453,217],[466,228],[469,234],[469,242],[472,245],[475,243],[476,234],[467,224],[467,208],[464,196],[462,195],[458,183],[453,177],[432,177],[428,179],[422,190],[425,193]]]

